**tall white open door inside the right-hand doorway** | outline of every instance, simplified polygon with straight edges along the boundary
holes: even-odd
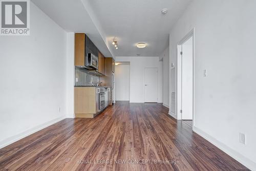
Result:
[[[193,119],[193,37],[182,44],[181,119]]]

